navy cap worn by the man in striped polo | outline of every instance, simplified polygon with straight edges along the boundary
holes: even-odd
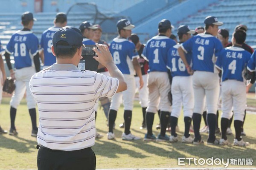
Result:
[[[69,45],[57,45],[59,41],[66,41]],[[78,48],[83,45],[83,35],[79,29],[65,26],[53,34],[52,45],[54,48]]]

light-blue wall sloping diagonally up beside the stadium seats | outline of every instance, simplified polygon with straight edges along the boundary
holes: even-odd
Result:
[[[169,10],[163,11],[163,13],[152,17],[150,20],[137,25],[134,29],[134,33],[149,33],[149,37],[153,37],[157,34],[158,23],[160,20],[166,18],[171,21],[172,24],[183,20],[187,16],[196,13],[198,10],[207,7],[211,3],[215,3],[218,0],[186,0]],[[202,21],[203,23],[204,21]]]

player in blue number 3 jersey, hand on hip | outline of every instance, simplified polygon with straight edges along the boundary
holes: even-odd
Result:
[[[191,39],[184,42],[178,52],[183,60],[189,74],[193,74],[194,89],[194,111],[193,125],[195,139],[194,144],[202,143],[200,135],[201,114],[204,110],[205,97],[207,106],[207,123],[209,126],[209,136],[207,144],[218,144],[219,141],[215,137],[216,111],[219,95],[219,77],[218,71],[214,67],[216,57],[222,50],[222,44],[215,36],[218,34],[218,26],[223,23],[218,22],[216,17],[208,16],[204,20],[205,33],[197,34]],[[185,53],[192,52],[192,68],[187,62]]]

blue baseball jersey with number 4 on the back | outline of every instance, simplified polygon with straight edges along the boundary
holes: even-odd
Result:
[[[222,81],[235,79],[244,82],[244,71],[251,54],[243,48],[232,46],[224,48],[217,58],[215,67],[222,71]]]

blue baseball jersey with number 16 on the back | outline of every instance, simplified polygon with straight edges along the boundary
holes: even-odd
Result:
[[[180,47],[180,44],[174,45],[168,51],[167,65],[166,67],[171,71],[172,77],[175,76],[190,76],[186,70],[186,66],[183,63],[177,49]],[[191,53],[186,54],[186,60],[190,65],[191,62]]]

